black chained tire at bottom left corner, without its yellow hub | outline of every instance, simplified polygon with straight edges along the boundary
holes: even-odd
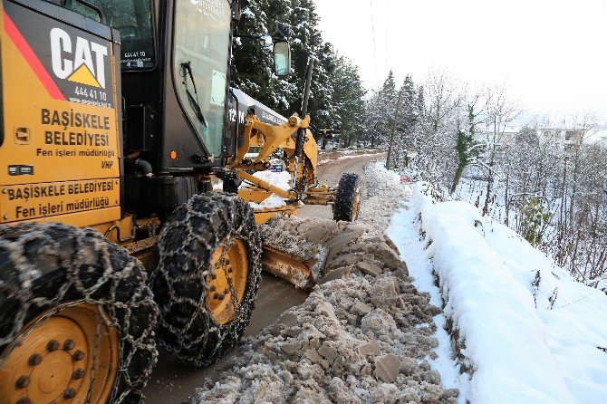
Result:
[[[143,403],[158,359],[158,308],[141,263],[92,229],[0,226],[0,352],[24,325],[65,303],[101,305],[120,338],[111,403]]]

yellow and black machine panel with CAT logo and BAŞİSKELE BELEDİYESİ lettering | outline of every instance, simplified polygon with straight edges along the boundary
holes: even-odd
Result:
[[[119,220],[115,44],[2,4],[0,223]]]

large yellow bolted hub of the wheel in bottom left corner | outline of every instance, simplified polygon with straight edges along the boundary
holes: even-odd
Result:
[[[50,314],[28,324],[19,343],[3,354],[2,402],[83,403],[88,396],[105,402],[118,367],[117,332],[100,322],[99,309],[90,304]]]

